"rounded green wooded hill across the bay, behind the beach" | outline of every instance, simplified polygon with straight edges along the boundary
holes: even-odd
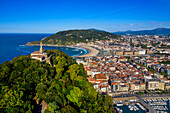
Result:
[[[102,32],[96,30],[69,30],[69,31],[61,31],[54,35],[51,35],[41,41],[43,44],[51,44],[51,45],[74,45],[79,42],[90,42],[96,40],[108,40],[110,38],[117,38],[118,35]],[[40,41],[29,42],[30,44],[39,44]]]

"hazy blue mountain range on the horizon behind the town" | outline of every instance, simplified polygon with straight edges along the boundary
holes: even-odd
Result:
[[[120,31],[114,32],[117,35],[170,35],[170,28],[157,28],[153,30],[140,30],[140,31]]]

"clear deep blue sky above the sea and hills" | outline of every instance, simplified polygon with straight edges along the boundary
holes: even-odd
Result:
[[[170,28],[170,0],[0,0],[0,33]]]

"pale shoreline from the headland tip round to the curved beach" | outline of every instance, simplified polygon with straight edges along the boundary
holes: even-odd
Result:
[[[26,46],[40,46],[40,44],[25,44]],[[71,45],[71,46],[65,46],[65,45],[51,45],[51,44],[43,44],[43,46],[51,46],[51,47],[81,47],[84,49],[89,50],[90,52],[84,55],[80,55],[80,56],[74,56],[77,58],[82,58],[82,57],[93,57],[93,56],[97,56],[97,54],[99,53],[98,50],[96,50],[93,47],[87,46],[87,45],[83,45],[83,46],[75,46],[75,45]]]

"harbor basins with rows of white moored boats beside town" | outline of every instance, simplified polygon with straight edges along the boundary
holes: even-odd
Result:
[[[117,113],[150,113],[149,109],[154,113],[170,113],[170,97],[150,97],[142,100],[150,108],[141,102],[117,103],[114,107]]]

